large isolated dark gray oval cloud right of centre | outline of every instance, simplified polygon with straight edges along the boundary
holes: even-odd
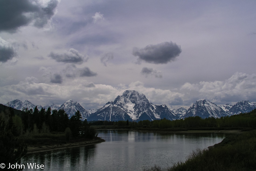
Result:
[[[163,42],[157,45],[147,45],[145,48],[133,48],[133,55],[138,56],[138,63],[166,64],[174,61],[181,53],[181,47],[176,43]]]

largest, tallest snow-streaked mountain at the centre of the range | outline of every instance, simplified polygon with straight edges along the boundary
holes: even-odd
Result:
[[[178,119],[166,105],[155,105],[148,101],[144,94],[135,90],[126,90],[122,96],[117,96],[114,101],[106,103],[95,113],[92,113],[88,121],[142,121],[167,118]]]

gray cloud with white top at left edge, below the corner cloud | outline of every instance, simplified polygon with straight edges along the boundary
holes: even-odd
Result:
[[[0,37],[0,62],[6,62],[16,56],[17,53],[11,43]]]

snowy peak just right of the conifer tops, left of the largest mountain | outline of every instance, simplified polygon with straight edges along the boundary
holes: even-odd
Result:
[[[63,103],[60,106],[60,109],[63,109],[68,114],[68,118],[71,118],[78,110],[82,114],[82,120],[87,119],[90,115],[90,113],[85,108],[83,108],[78,102],[74,102],[73,100],[68,100]]]

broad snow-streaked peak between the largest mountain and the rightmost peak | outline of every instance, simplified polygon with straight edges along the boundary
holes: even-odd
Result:
[[[188,109],[184,118],[199,116],[201,118],[220,118],[229,116],[228,112],[225,112],[220,106],[215,103],[210,102],[209,100],[197,100],[192,107]]]

